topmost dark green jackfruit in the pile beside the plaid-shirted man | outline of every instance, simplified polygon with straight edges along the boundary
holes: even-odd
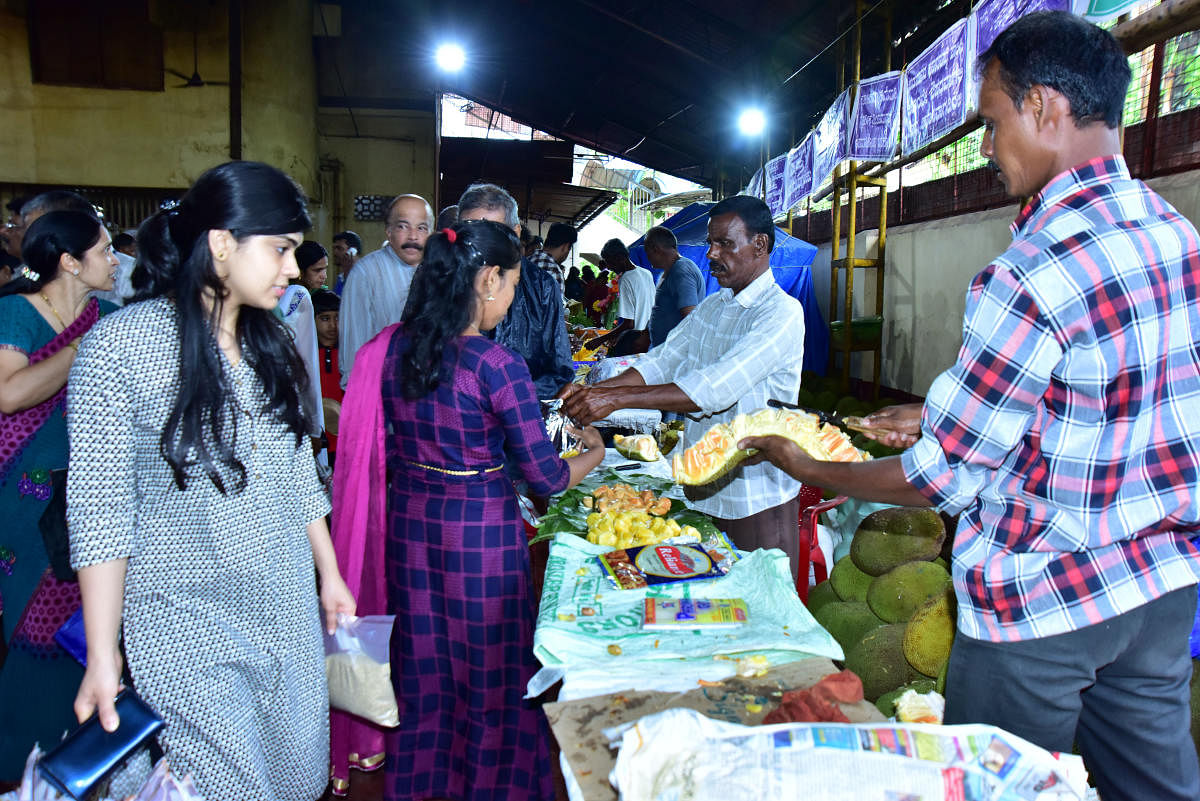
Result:
[[[883,576],[905,562],[936,559],[944,540],[946,525],[934,510],[884,508],[858,525],[850,555],[864,573]]]

